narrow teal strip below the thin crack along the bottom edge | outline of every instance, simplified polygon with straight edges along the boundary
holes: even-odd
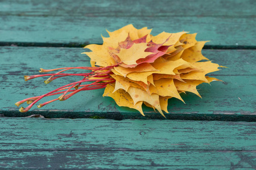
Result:
[[[251,151],[0,151],[10,169],[255,169]]]

